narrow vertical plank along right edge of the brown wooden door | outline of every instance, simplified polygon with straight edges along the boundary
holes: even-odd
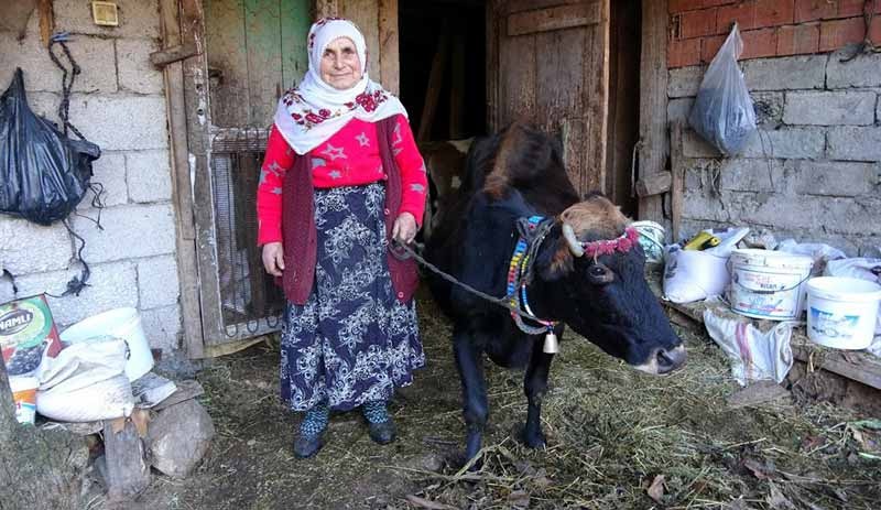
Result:
[[[609,115],[609,1],[601,0],[600,21],[589,25],[585,41],[584,94],[588,131],[579,191],[606,189],[606,143]]]

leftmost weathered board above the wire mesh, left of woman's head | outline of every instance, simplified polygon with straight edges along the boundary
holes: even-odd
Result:
[[[211,121],[222,128],[243,126],[248,123],[251,109],[244,0],[205,0],[204,3],[207,65],[213,76]]]

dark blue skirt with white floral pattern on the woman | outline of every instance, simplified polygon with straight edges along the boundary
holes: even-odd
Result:
[[[415,303],[392,289],[384,198],[379,183],[315,191],[315,284],[305,305],[287,303],[282,329],[281,393],[294,411],[389,400],[425,365]]]

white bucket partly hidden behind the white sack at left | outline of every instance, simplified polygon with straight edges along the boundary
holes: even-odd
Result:
[[[89,338],[121,338],[129,347],[126,376],[130,381],[153,368],[153,354],[146,341],[141,316],[135,308],[115,308],[85,318],[61,334],[62,344],[76,344]]]

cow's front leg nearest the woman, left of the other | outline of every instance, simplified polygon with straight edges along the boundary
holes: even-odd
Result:
[[[476,336],[466,332],[453,334],[453,350],[456,355],[456,366],[461,379],[463,408],[465,423],[468,427],[466,440],[466,462],[474,458],[482,442],[483,427],[487,424],[489,406],[487,404],[487,388],[483,380],[483,363],[481,351],[476,346]]]

